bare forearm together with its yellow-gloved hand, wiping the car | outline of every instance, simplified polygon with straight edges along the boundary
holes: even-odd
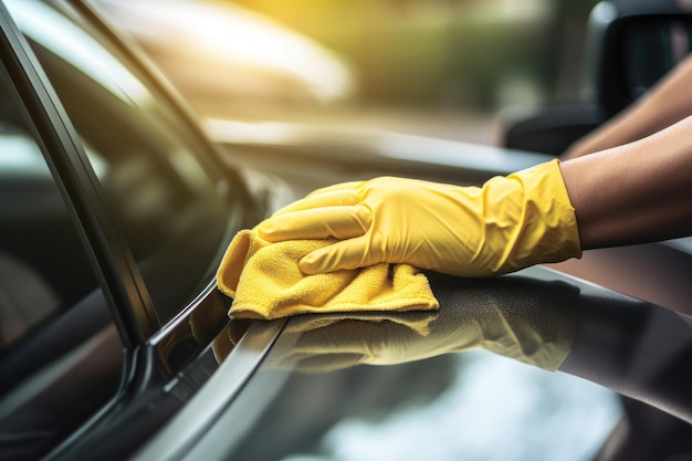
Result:
[[[636,143],[553,160],[481,188],[401,178],[317,190],[259,226],[269,241],[335,239],[305,273],[376,262],[489,276],[581,250],[692,234],[692,118]]]

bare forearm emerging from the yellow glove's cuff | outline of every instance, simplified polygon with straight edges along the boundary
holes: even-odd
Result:
[[[583,250],[692,234],[692,117],[560,170]]]

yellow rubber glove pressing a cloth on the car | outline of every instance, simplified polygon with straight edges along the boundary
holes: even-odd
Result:
[[[269,241],[337,239],[303,256],[307,274],[388,262],[480,277],[581,255],[558,160],[482,188],[389,177],[331,186],[258,232]]]

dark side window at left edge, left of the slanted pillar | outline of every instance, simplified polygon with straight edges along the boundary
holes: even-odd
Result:
[[[123,344],[0,66],[0,458],[36,459],[115,396]],[[78,405],[75,405],[78,402]]]

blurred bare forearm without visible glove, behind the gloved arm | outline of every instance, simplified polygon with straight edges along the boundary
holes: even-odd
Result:
[[[620,114],[572,145],[564,160],[621,146],[657,133],[692,115],[692,55],[682,60]]]

